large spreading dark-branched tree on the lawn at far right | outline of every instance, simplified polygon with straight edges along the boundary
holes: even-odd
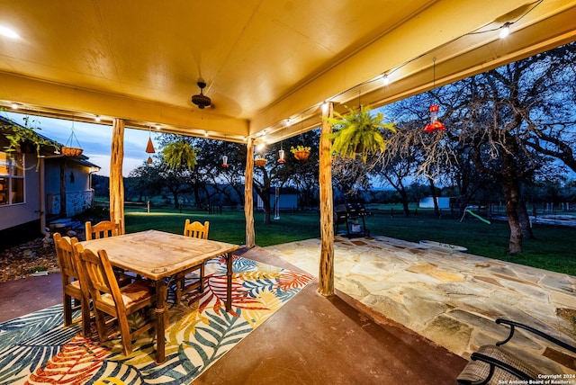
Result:
[[[523,237],[532,236],[522,185],[534,180],[551,162],[541,151],[544,147],[536,144],[542,145],[543,138],[551,137],[549,128],[553,124],[545,126],[541,122],[570,116],[561,105],[571,98],[559,92],[558,82],[565,82],[567,73],[574,74],[565,67],[567,56],[573,58],[573,47],[552,49],[445,88],[465,102],[448,112],[452,116],[446,118],[446,126],[450,127],[447,135],[466,148],[462,154],[470,151],[479,173],[490,175],[500,185],[509,219],[512,255],[522,252]],[[555,76],[558,73],[564,76]],[[564,113],[558,113],[561,111]],[[573,127],[573,121],[568,125]],[[556,134],[556,139],[562,139],[564,144],[566,140],[572,143],[573,137],[566,132]],[[438,140],[439,137],[435,139]],[[554,147],[547,143],[548,148]]]

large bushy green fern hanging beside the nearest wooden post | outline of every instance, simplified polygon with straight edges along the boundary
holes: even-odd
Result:
[[[382,112],[372,114],[369,107],[361,105],[358,112],[351,108],[348,111],[346,116],[334,112],[336,118],[327,118],[335,129],[329,135],[330,139],[334,139],[332,152],[352,159],[360,156],[365,162],[369,153],[382,152],[386,148],[388,141],[384,139],[383,132],[396,132],[396,129],[392,123],[383,122]]]

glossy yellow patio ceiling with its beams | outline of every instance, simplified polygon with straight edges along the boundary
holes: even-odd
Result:
[[[0,104],[241,141],[575,40],[576,0],[0,0]],[[510,22],[511,34],[499,31]],[[390,85],[383,85],[388,74]],[[203,79],[213,106],[191,96]],[[288,120],[292,123],[288,125]],[[266,131],[265,131],[266,130]]]

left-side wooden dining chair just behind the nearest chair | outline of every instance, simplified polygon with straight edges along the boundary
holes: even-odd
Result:
[[[90,336],[90,298],[86,295],[87,291],[82,290],[79,273],[78,250],[82,249],[82,245],[76,237],[62,237],[54,233],[53,238],[62,278],[64,326],[70,326],[72,312],[81,309],[83,334]]]

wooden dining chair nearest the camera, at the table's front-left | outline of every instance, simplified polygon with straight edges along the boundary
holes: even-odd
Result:
[[[122,349],[124,355],[132,353],[132,339],[154,327],[152,318],[139,327],[130,329],[128,316],[156,303],[156,293],[151,282],[139,280],[120,287],[112,270],[112,264],[105,250],[94,254],[90,249],[80,253],[80,268],[82,284],[87,286],[92,303],[96,328],[101,342],[105,342],[108,334],[108,324],[105,315],[112,316],[120,328]]]

